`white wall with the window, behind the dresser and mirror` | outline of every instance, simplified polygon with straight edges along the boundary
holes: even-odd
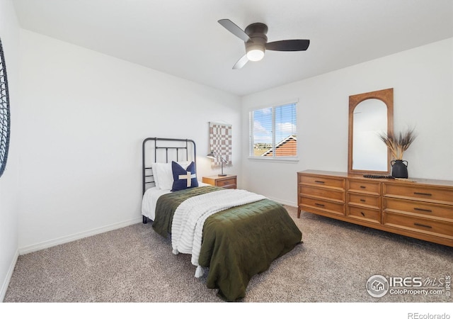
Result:
[[[303,67],[303,66],[301,66]],[[299,162],[248,159],[242,136],[243,187],[297,206],[297,172],[348,171],[350,95],[394,88],[394,128],[415,126],[404,154],[409,177],[453,179],[453,38],[243,97],[243,132],[251,108],[299,98]]]

